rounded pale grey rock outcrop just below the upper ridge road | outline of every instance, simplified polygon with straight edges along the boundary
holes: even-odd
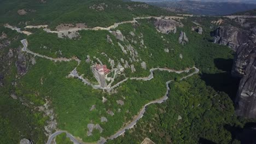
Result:
[[[155,28],[165,34],[169,34],[170,32],[176,33],[177,27],[183,27],[184,25],[181,22],[178,22],[176,20],[165,20],[165,19],[159,19],[156,20]]]

